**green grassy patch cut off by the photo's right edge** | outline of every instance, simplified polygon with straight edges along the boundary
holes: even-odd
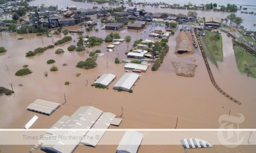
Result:
[[[233,41],[237,68],[241,73],[256,78],[256,57],[247,52],[243,47]]]

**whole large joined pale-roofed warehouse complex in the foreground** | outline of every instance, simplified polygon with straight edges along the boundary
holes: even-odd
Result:
[[[67,131],[47,131],[44,140],[38,142],[45,152],[74,152],[77,145],[82,143],[95,147],[105,131],[89,131],[89,129],[108,129],[116,115],[105,113],[93,106],[81,106],[72,116],[63,116],[51,129],[68,129]],[[84,129],[76,131],[76,129]],[[84,136],[99,136],[99,139],[86,140]],[[51,137],[56,136],[54,139]],[[74,139],[68,139],[71,136]],[[65,139],[67,138],[67,139]]]

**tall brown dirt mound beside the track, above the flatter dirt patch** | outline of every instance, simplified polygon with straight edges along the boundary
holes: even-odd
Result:
[[[180,31],[176,38],[177,45],[175,54],[194,54],[192,36],[189,32]]]

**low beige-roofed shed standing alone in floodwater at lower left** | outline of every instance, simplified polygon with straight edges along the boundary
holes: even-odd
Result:
[[[27,109],[33,112],[51,115],[51,113],[57,110],[59,107],[60,107],[59,103],[55,103],[52,101],[45,101],[42,99],[36,99],[33,103],[27,106]]]

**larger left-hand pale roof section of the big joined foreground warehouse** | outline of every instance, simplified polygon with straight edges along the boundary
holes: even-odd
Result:
[[[101,114],[102,111],[93,106],[80,107],[64,124],[61,124],[60,127],[74,130],[55,131],[53,135],[63,139],[47,140],[41,148],[43,150],[54,150],[62,153],[73,152],[84,138],[84,135],[88,132],[86,129],[92,128]],[[76,131],[76,129],[84,129],[84,131]],[[68,136],[72,136],[72,138],[68,138]]]

